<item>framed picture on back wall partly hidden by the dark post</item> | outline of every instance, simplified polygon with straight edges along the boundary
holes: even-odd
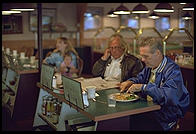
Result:
[[[56,9],[43,8],[42,9],[42,31],[49,32],[51,25],[56,22]],[[29,13],[29,30],[31,32],[37,31],[37,10]]]

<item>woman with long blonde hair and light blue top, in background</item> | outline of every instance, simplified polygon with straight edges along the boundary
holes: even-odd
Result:
[[[72,64],[77,68],[78,53],[73,48],[71,42],[66,37],[57,38],[56,49],[46,57],[43,62],[56,67],[56,71],[60,71],[60,65],[64,60],[64,54],[70,52],[72,57]]]

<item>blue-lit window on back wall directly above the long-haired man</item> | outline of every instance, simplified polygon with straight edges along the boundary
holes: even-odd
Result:
[[[120,16],[120,26],[127,26],[135,29],[139,29],[139,16],[135,14],[131,15],[121,15]]]

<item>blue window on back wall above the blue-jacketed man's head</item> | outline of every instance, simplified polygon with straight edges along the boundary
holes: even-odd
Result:
[[[160,16],[159,19],[155,20],[155,27],[159,32],[164,32],[170,29],[170,17]]]

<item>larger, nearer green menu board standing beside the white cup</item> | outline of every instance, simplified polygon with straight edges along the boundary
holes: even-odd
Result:
[[[62,75],[65,99],[72,104],[84,109],[82,88],[80,82]]]

